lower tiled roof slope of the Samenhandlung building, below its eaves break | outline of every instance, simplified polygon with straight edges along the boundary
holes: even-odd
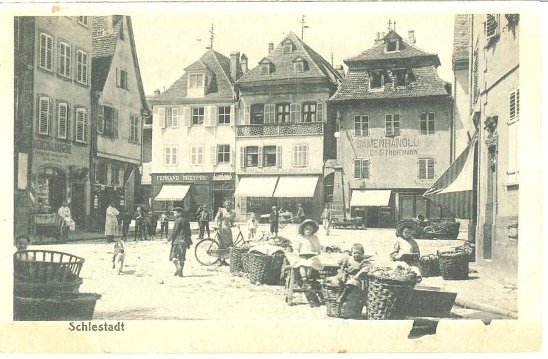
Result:
[[[369,90],[369,71],[349,70],[337,92],[330,101],[369,100],[379,98],[416,98],[425,96],[449,96],[448,83],[440,79],[434,66],[412,69],[410,83],[406,89],[395,90],[392,83],[384,91]],[[390,75],[389,75],[390,77]]]

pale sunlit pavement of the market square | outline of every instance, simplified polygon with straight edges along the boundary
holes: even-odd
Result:
[[[268,230],[260,226],[259,232]],[[245,228],[242,226],[242,231]],[[291,238],[295,225],[283,228],[279,235]],[[235,228],[236,235],[236,228]],[[193,236],[194,238],[195,236]],[[347,249],[352,243],[363,243],[366,252],[376,254],[379,261],[392,248],[393,230],[332,230],[331,235],[319,233],[323,245]],[[196,241],[195,241],[196,242]],[[419,241],[421,253],[435,253],[438,248],[459,245],[462,241]],[[164,240],[126,242],[125,269],[118,275],[112,269],[112,243],[104,240],[40,245],[40,249],[69,252],[86,259],[82,269],[84,284],[80,291],[99,293],[95,319],[332,319],[325,315],[325,306],[311,308],[300,294],[297,305],[286,306],[284,289],[280,286],[253,285],[247,278],[232,276],[228,267],[204,267],[197,263],[194,247],[187,253],[184,278],[174,277],[174,266],[168,261],[170,245]],[[424,278],[421,284],[445,287],[466,300],[516,310],[516,280],[493,271],[471,267],[477,273],[471,280],[443,281]],[[474,310],[455,308],[453,314],[463,317],[485,317]],[[493,316],[496,317],[496,316]]]

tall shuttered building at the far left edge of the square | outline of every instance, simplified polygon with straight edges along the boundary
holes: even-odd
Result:
[[[69,202],[86,226],[90,182],[91,18],[14,18],[14,231],[57,233]],[[34,232],[34,233],[33,233]]]

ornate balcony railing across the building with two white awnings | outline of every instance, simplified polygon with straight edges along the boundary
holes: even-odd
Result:
[[[323,122],[239,124],[236,137],[323,135]]]

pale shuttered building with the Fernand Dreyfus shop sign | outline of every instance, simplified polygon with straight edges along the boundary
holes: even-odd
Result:
[[[242,54],[243,64],[245,58]],[[155,209],[195,213],[200,204],[215,210],[233,199],[234,81],[241,67],[239,53],[226,57],[209,49],[169,89],[151,98]]]

